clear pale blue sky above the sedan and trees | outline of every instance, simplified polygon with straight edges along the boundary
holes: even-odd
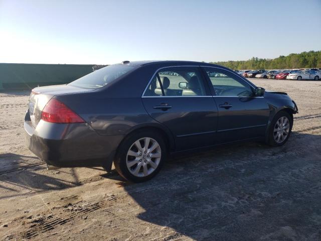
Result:
[[[210,62],[309,50],[321,50],[321,0],[0,0],[0,62]]]

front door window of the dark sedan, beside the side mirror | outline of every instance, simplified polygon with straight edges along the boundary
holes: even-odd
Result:
[[[238,76],[221,69],[205,68],[217,96],[253,96],[253,89]]]

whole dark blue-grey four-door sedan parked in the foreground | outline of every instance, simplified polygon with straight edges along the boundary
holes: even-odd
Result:
[[[55,167],[100,166],[133,182],[174,154],[237,141],[281,146],[294,101],[228,68],[187,61],[124,61],[67,85],[32,90],[29,149]]]

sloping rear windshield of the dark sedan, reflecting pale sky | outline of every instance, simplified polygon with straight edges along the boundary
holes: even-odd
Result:
[[[111,83],[115,79],[118,79],[120,76],[133,69],[134,66],[129,65],[109,65],[102,69],[96,70],[95,72],[87,74],[79,79],[76,79],[68,85],[80,88],[97,89]]]

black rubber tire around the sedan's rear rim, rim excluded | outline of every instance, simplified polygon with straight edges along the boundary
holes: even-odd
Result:
[[[162,155],[157,168],[155,168],[152,173],[144,177],[137,177],[131,174],[130,171],[128,170],[127,164],[126,164],[126,158],[127,158],[127,152],[130,149],[130,147],[133,145],[133,143],[142,138],[154,139],[159,144]],[[114,159],[114,165],[115,165],[116,171],[119,173],[120,176],[122,176],[128,181],[139,183],[139,182],[144,182],[153,178],[159,172],[159,170],[161,170],[166,158],[167,158],[167,149],[166,149],[163,135],[154,130],[146,129],[146,130],[136,131],[132,134],[129,134],[122,141],[122,143],[119,145],[117,149],[117,153]]]

